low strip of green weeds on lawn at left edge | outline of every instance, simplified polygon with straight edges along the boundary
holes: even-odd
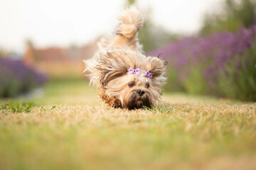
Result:
[[[33,102],[6,102],[0,106],[0,111],[11,111],[12,113],[30,113]]]

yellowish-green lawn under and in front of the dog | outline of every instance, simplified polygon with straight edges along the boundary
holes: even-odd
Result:
[[[167,94],[150,110],[105,106],[86,81],[0,101],[0,169],[255,169],[256,104]]]

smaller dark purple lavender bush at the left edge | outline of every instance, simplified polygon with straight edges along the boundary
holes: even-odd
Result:
[[[0,58],[0,97],[13,97],[46,81],[46,76],[21,61]]]

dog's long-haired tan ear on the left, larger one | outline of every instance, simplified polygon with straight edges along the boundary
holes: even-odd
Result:
[[[99,80],[102,87],[112,80],[127,74],[127,63],[123,57],[116,52],[99,52],[97,54],[97,71],[99,72]]]

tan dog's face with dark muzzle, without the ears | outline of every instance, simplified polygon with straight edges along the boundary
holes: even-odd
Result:
[[[130,110],[143,106],[151,108],[156,103],[159,89],[151,80],[145,82],[138,78],[137,74],[127,72],[127,74],[111,80],[106,86],[105,93],[118,98],[119,101],[117,100],[116,104],[122,108]]]

